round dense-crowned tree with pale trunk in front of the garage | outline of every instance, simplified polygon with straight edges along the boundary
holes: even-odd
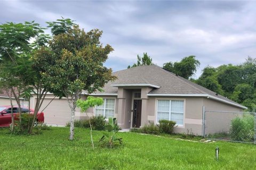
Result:
[[[46,62],[41,69],[43,81],[55,96],[66,97],[71,109],[70,140],[74,139],[74,119],[77,100],[83,91],[91,94],[116,77],[103,66],[110,45],[102,46],[98,29],[85,32],[73,25],[66,33],[54,35],[49,47],[37,50],[36,62]]]

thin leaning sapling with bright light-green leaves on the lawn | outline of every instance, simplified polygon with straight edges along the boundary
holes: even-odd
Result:
[[[78,99],[76,103],[77,103],[77,106],[79,108],[81,108],[81,112],[85,112],[86,116],[89,117],[86,113],[87,109],[89,109],[90,107],[102,105],[103,99],[100,97],[89,96],[89,97],[87,97],[86,100]],[[92,139],[92,125],[91,125],[90,118],[89,118],[89,124],[90,124],[90,129],[91,129],[90,133],[91,133],[92,148],[94,149],[94,144],[93,144],[93,139]]]

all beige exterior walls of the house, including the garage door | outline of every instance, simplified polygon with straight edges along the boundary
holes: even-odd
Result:
[[[217,100],[207,99],[204,97],[149,97],[148,92],[152,88],[142,87],[141,89],[135,88],[118,88],[117,96],[97,96],[102,98],[115,99],[115,111],[114,117],[117,117],[118,125],[125,128],[132,128],[132,109],[133,109],[133,92],[141,92],[142,109],[141,109],[141,126],[148,124],[149,122],[157,123],[157,100],[158,99],[171,99],[171,100],[184,100],[184,114],[183,114],[183,126],[179,125],[174,128],[174,133],[190,133],[196,135],[202,135],[202,116],[203,106],[206,111],[234,111],[241,112],[242,109],[231,106],[225,103],[221,103]],[[47,95],[45,101],[41,107],[43,109],[49,101],[53,98],[53,95]],[[83,97],[86,99],[86,96]],[[1,105],[5,105],[4,102],[9,99],[0,98]],[[31,107],[34,108],[36,102],[35,98],[31,98]],[[3,102],[3,104],[2,104]],[[9,104],[7,102],[7,104]],[[66,98],[54,99],[52,103],[45,109],[45,123],[65,125],[70,120],[70,108],[68,106]],[[94,115],[94,108],[87,110],[87,115]],[[230,128],[230,120],[237,114],[218,114],[206,112],[206,133],[215,133],[227,131]],[[85,113],[81,113],[77,110],[75,115],[76,120],[87,119]],[[66,121],[66,122],[65,122]],[[65,122],[65,123],[64,123]]]

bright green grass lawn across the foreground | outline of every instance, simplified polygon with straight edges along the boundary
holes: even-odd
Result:
[[[92,150],[87,129],[52,128],[41,135],[15,136],[0,129],[0,169],[256,169],[256,145],[181,141],[131,132],[119,133],[124,145],[101,148],[94,131]],[[215,147],[220,158],[215,160]]]

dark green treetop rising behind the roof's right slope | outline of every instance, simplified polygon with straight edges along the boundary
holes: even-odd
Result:
[[[164,63],[163,68],[173,72],[185,79],[189,79],[192,75],[195,74],[196,68],[200,65],[200,62],[196,60],[196,56],[188,56],[182,58],[180,62],[169,62]]]

